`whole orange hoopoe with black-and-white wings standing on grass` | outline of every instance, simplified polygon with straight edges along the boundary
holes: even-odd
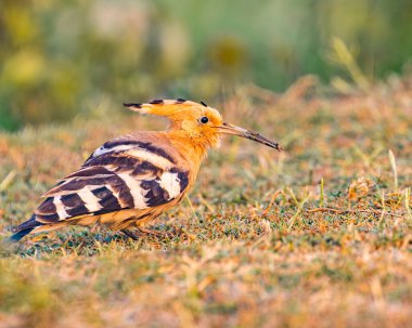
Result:
[[[170,126],[167,131],[132,132],[95,149],[78,171],[42,196],[31,218],[13,229],[12,241],[72,224],[104,224],[137,239],[130,228],[144,232],[145,223],[183,199],[207,150],[218,146],[222,134],[281,149],[259,133],[223,122],[203,102],[155,100],[124,106],[166,117]]]

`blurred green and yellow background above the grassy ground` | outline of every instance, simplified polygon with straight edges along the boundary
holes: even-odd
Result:
[[[345,78],[335,37],[369,81],[402,74],[412,1],[1,0],[0,129],[130,101],[213,102],[244,83],[282,91],[306,74]]]

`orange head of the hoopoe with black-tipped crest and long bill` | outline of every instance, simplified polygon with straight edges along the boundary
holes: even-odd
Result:
[[[193,143],[216,147],[222,134],[233,134],[253,140],[281,150],[278,143],[259,133],[223,122],[220,113],[205,103],[195,103],[182,99],[155,100],[146,104],[124,104],[131,110],[163,116],[169,119],[170,130],[183,132]]]

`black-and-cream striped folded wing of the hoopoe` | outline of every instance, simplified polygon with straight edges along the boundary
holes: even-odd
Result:
[[[150,142],[115,140],[43,195],[36,221],[153,208],[179,198],[188,184],[189,172],[177,166],[170,152]]]

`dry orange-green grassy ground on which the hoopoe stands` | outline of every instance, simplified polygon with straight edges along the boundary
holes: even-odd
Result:
[[[285,153],[226,139],[190,200],[154,222],[169,237],[73,227],[3,251],[0,327],[407,327],[411,83],[240,89],[217,106],[226,120]],[[102,113],[0,135],[0,238],[102,142],[162,128]]]

